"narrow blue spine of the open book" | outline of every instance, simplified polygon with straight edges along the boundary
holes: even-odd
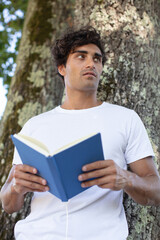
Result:
[[[56,184],[57,190],[59,192],[60,198],[61,198],[62,202],[67,202],[68,201],[68,196],[67,196],[67,193],[65,191],[65,188],[64,188],[64,185],[63,185],[61,175],[60,175],[59,169],[57,167],[55,158],[54,158],[54,156],[49,157],[49,158],[51,158],[50,162],[52,161],[51,165],[54,166],[54,172],[52,174],[54,176],[55,184]]]

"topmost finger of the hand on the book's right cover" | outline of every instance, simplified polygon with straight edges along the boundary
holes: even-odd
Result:
[[[92,170],[95,170],[95,169],[109,167],[109,166],[111,166],[113,164],[114,164],[113,160],[101,160],[101,161],[96,161],[96,162],[84,165],[82,167],[82,170],[84,172],[92,171]]]

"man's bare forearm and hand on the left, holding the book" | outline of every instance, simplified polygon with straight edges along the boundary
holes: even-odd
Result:
[[[36,175],[37,170],[28,165],[13,165],[6,183],[1,189],[0,199],[7,213],[19,211],[27,192],[48,191],[46,180]]]

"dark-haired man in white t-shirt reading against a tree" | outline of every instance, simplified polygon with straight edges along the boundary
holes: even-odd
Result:
[[[125,240],[123,191],[142,205],[160,204],[160,179],[146,130],[133,110],[97,100],[105,53],[95,29],[69,32],[56,41],[53,55],[64,80],[65,101],[30,119],[21,132],[52,151],[101,133],[105,161],[83,166],[83,174],[77,176],[84,188],[92,187],[70,199],[67,235],[70,240]],[[34,192],[31,213],[16,224],[16,239],[64,239],[65,203],[48,193],[46,180],[35,168],[22,165],[16,151],[13,164],[1,191],[5,211],[19,211],[25,194]]]

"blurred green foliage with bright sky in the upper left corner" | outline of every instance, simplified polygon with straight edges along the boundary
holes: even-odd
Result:
[[[0,0],[0,77],[8,86],[14,72],[27,4],[28,0]]]

